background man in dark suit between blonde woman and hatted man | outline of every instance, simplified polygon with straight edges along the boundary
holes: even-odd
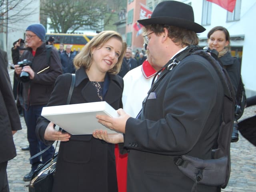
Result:
[[[124,77],[128,71],[136,68],[137,66],[138,66],[137,60],[132,58],[132,49],[127,48],[122,65],[121,65],[121,69],[118,75],[120,75],[121,77]]]

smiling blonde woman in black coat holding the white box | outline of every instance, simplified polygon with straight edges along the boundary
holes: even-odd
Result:
[[[126,43],[114,31],[97,34],[74,58],[76,83],[70,104],[106,101],[122,108],[123,80],[120,71]],[[71,74],[60,75],[47,106],[66,104]],[[87,125],[84,125],[86,129]],[[45,144],[60,140],[53,192],[117,192],[114,144],[92,135],[70,135],[54,130],[54,124],[40,117],[38,138]]]

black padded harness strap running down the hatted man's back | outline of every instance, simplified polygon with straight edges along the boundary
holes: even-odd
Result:
[[[203,50],[192,54],[200,55],[210,62],[217,72],[224,89],[222,107],[222,123],[218,134],[218,148],[213,151],[213,159],[202,160],[188,155],[174,158],[174,163],[189,178],[195,181],[192,191],[197,184],[221,186],[225,188],[230,176],[230,141],[234,123],[234,92],[227,71],[220,66],[216,59]]]

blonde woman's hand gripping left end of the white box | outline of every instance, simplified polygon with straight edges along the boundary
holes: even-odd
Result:
[[[46,130],[44,132],[44,139],[48,141],[68,141],[70,138],[70,134],[68,133],[62,133],[60,131],[56,131],[54,129],[54,124],[50,122],[48,126],[46,127]]]

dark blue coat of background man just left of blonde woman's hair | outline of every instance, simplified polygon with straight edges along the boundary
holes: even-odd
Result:
[[[68,54],[66,52],[60,54],[60,62],[62,65],[62,71],[64,73],[75,73],[76,69],[73,64],[73,60],[76,54],[70,53],[70,56],[68,57]]]

